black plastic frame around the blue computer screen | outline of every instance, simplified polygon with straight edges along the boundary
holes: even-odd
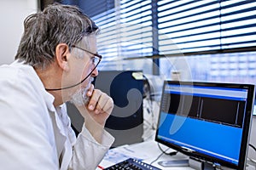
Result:
[[[254,92],[255,87],[253,84],[238,84],[238,83],[223,83],[223,82],[181,82],[181,81],[171,81],[171,80],[165,80],[162,88],[162,96],[161,100],[163,99],[163,94],[165,90],[165,86],[167,83],[172,84],[183,84],[183,85],[193,85],[193,86],[208,86],[208,87],[219,87],[219,88],[247,88],[248,94],[247,94],[247,104],[246,104],[246,113],[244,117],[244,124],[245,126],[242,130],[242,139],[241,139],[241,151],[239,154],[239,161],[238,165],[230,163],[228,161],[224,161],[221,159],[218,159],[213,156],[207,156],[206,154],[202,154],[200,152],[191,152],[189,150],[183,150],[183,148],[177,144],[172,144],[169,142],[166,142],[165,140],[158,139],[158,130],[160,126],[160,112],[161,112],[161,106],[160,103],[160,112],[159,112],[159,118],[157,123],[157,129],[155,133],[154,140],[156,142],[159,142],[160,144],[165,144],[166,146],[177,150],[181,153],[183,153],[186,156],[194,157],[196,159],[199,159],[201,161],[209,161],[212,163],[218,163],[221,166],[224,167],[230,167],[230,168],[236,168],[238,170],[242,170],[246,167],[246,159],[247,159],[247,148],[248,148],[248,141],[249,141],[249,134],[251,129],[251,123],[252,123],[252,117],[253,117],[253,102],[254,102]]]

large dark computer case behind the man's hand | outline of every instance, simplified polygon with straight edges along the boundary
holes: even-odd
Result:
[[[115,138],[113,147],[143,141],[143,80],[134,74],[141,71],[99,71],[95,88],[112,97],[114,108],[106,122],[106,130]],[[80,132],[83,118],[67,103],[73,128]]]

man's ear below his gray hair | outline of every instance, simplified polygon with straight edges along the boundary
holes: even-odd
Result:
[[[66,43],[59,43],[55,48],[56,61],[62,70],[68,71],[69,48]]]

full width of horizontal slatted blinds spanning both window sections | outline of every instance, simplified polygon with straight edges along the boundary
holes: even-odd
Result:
[[[103,60],[256,51],[254,0],[63,2],[79,5],[101,27]]]

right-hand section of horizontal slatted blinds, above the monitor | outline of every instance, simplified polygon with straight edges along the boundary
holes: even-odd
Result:
[[[160,54],[211,54],[256,47],[256,2],[158,1]]]

